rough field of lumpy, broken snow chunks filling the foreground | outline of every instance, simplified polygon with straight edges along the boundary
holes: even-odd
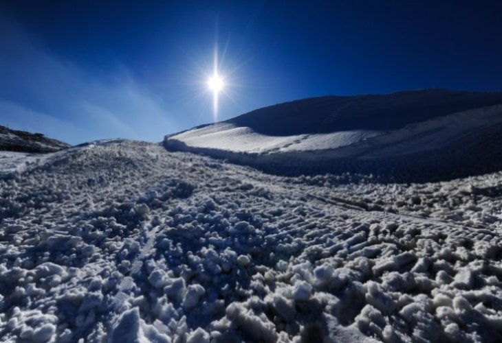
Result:
[[[502,340],[500,173],[280,178],[132,141],[9,171],[1,341]]]

